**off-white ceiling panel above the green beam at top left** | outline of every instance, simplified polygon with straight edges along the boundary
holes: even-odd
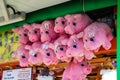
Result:
[[[7,4],[13,6],[17,11],[25,11],[26,13],[64,3],[70,0],[5,0]],[[0,11],[0,16],[2,12]]]

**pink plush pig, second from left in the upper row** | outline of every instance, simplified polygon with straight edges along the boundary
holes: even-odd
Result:
[[[29,36],[29,40],[31,42],[36,42],[40,40],[40,27],[41,24],[25,24],[23,26],[24,28],[26,28],[29,32],[28,32],[28,36]]]

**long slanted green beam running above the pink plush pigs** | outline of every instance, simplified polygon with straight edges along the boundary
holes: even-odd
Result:
[[[117,5],[117,0],[84,0],[85,11],[91,11],[95,9],[105,8],[109,6]],[[81,0],[72,0],[52,7],[44,8],[38,11],[28,13],[26,20],[1,26],[0,31],[9,30],[18,26],[22,26],[25,23],[34,23],[43,21],[46,19],[54,19],[58,16],[64,16],[66,14],[83,12],[83,4]]]

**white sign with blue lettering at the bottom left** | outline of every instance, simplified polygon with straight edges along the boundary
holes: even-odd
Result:
[[[3,71],[2,80],[32,80],[32,68]]]

